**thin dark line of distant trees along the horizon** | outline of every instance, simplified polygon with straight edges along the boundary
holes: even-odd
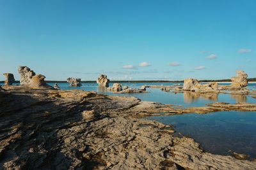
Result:
[[[256,78],[248,78],[249,81],[256,81]],[[230,82],[230,79],[223,80],[200,80],[200,82]],[[15,81],[15,83],[19,83],[20,81]],[[183,83],[184,80],[181,81],[168,81],[168,80],[120,80],[120,81],[110,81],[110,83]],[[4,83],[4,81],[0,81],[0,83]],[[67,83],[67,81],[52,81],[46,80],[46,83]],[[81,83],[96,83],[96,81],[81,81]]]

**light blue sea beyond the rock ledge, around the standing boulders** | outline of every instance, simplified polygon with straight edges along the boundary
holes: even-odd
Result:
[[[147,85],[173,85],[177,83],[147,83]],[[228,84],[228,83],[223,83]],[[49,85],[54,85],[54,83],[49,83]],[[198,107],[205,106],[207,103],[216,103],[216,102],[227,102],[227,103],[237,103],[237,102],[248,102],[248,103],[256,103],[256,99],[250,96],[237,96],[237,95],[229,95],[229,94],[202,94],[198,95],[193,92],[185,92],[184,94],[174,94],[172,92],[162,92],[160,89],[150,89],[147,91],[149,93],[141,93],[141,94],[115,94],[112,92],[108,92],[102,88],[99,88],[97,83],[83,83],[82,87],[69,87],[68,83],[58,83],[60,89],[62,90],[71,90],[71,89],[81,89],[86,91],[95,91],[100,94],[108,94],[112,96],[134,96],[142,101],[154,101],[157,103],[163,104],[175,104],[183,106],[184,108],[188,107]],[[113,83],[109,84],[110,86]],[[132,88],[139,88],[145,83],[122,83],[122,85],[127,85]],[[249,83],[248,89],[256,89],[255,83]]]

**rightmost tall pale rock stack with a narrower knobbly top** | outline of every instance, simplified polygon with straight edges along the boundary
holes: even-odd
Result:
[[[236,76],[231,78],[231,86],[236,88],[246,87],[248,85],[247,77],[248,74],[244,73],[244,71],[237,70]]]

